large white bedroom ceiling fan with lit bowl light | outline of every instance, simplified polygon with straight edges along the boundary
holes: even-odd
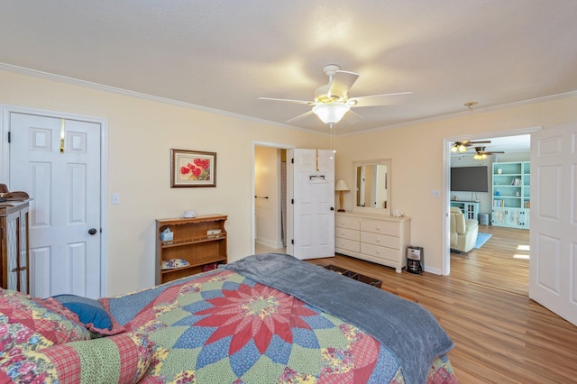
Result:
[[[343,118],[344,114],[351,112],[357,118],[361,115],[351,111],[351,108],[375,105],[394,105],[405,101],[404,97],[412,92],[400,92],[394,94],[382,94],[371,96],[349,97],[349,90],[353,87],[354,82],[359,75],[354,72],[341,70],[336,64],[329,64],[323,68],[325,75],[328,76],[328,84],[316,88],[314,101],[291,100],[285,98],[259,97],[261,100],[281,101],[296,104],[313,105],[312,110],[305,114],[299,114],[286,123],[291,123],[307,117],[310,114],[316,114],[323,123],[328,124],[331,128]]]

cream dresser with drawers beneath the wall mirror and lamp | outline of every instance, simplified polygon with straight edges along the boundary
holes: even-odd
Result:
[[[334,251],[392,267],[407,266],[410,218],[355,213],[334,215]]]

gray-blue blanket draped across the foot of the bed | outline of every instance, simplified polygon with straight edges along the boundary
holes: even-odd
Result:
[[[371,334],[393,352],[408,384],[425,383],[453,341],[426,308],[281,253],[252,255],[221,268],[298,297]]]

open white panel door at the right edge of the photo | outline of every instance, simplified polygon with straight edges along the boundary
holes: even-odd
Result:
[[[531,134],[529,297],[577,325],[577,123]]]

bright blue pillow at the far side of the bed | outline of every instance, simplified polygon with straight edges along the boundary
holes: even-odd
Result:
[[[44,302],[63,306],[78,315],[80,323],[96,335],[110,336],[125,331],[125,328],[114,320],[114,317],[98,300],[76,295],[58,295],[48,297],[44,299]]]

